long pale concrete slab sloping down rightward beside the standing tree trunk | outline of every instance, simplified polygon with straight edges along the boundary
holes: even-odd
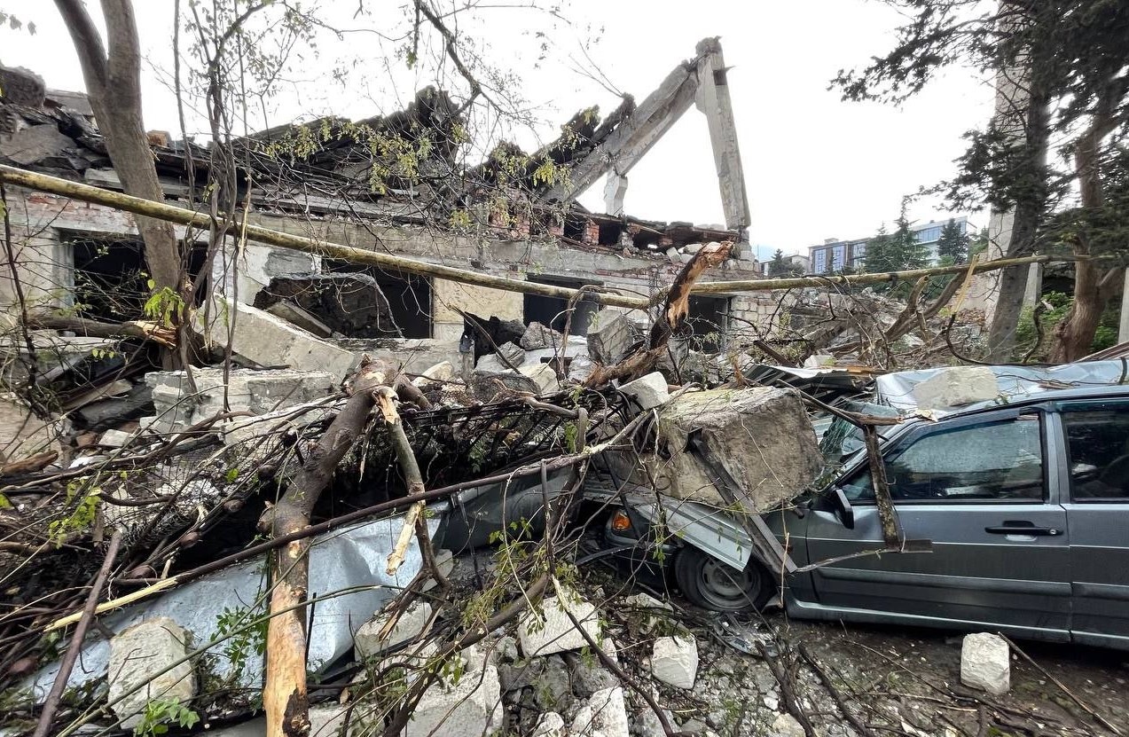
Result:
[[[295,327],[281,317],[230,299],[215,300],[210,317],[209,323],[203,324],[201,314],[196,314],[196,327],[211,345],[227,344],[234,318],[231,351],[263,368],[326,371],[341,381],[360,361],[351,351]]]

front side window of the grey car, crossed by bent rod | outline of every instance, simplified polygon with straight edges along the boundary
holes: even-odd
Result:
[[[886,456],[895,501],[1042,501],[1044,475],[1038,415],[942,427]],[[874,499],[869,468],[842,489],[850,500]]]

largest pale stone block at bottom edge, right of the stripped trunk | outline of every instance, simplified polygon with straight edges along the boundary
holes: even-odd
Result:
[[[463,655],[467,667],[458,682],[448,679],[428,688],[412,712],[403,737],[482,737],[501,727],[498,668],[476,648]]]

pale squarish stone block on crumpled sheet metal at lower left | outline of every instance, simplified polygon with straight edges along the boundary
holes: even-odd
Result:
[[[187,703],[196,695],[191,663],[173,666],[189,653],[187,640],[189,633],[166,616],[145,620],[110,640],[110,702],[122,727],[135,727],[146,704],[155,699]]]

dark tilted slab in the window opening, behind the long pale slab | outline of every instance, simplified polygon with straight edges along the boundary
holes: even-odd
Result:
[[[255,295],[255,307],[259,309],[268,309],[286,301],[312,315],[331,333],[349,337],[401,337],[387,298],[376,280],[368,274],[274,277],[266,288]],[[429,307],[420,306],[423,310]]]

